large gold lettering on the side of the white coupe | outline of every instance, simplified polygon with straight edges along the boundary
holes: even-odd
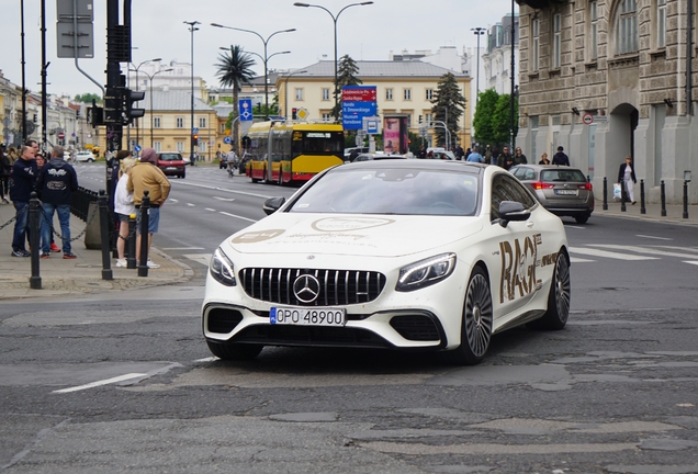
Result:
[[[499,281],[499,303],[504,300],[513,301],[524,297],[541,287],[541,282],[536,279],[538,263],[538,244],[541,242],[540,234],[526,237],[522,241],[514,240],[499,242],[502,256],[502,279]]]

